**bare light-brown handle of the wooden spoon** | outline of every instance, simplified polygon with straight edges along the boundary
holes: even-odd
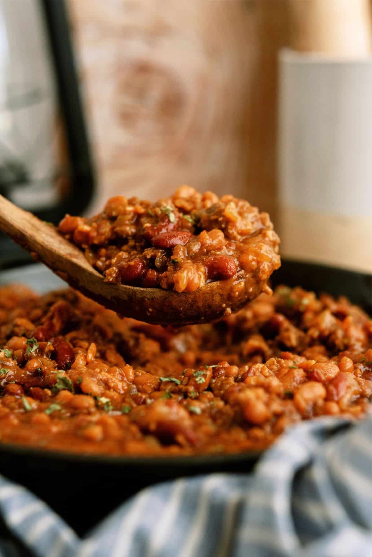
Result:
[[[52,224],[41,221],[32,213],[0,195],[0,229],[13,241],[42,261],[53,271],[65,273],[67,261],[92,271],[82,252],[60,236]]]

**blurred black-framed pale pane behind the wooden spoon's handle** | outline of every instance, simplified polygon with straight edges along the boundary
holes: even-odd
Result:
[[[0,192],[58,223],[94,177],[63,1],[0,2]],[[28,254],[0,236],[0,268]]]

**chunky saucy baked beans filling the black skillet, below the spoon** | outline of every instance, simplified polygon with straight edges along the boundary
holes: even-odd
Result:
[[[304,419],[363,416],[371,334],[345,298],[301,288],[171,330],[71,290],[3,287],[0,438],[108,455],[263,448]]]

